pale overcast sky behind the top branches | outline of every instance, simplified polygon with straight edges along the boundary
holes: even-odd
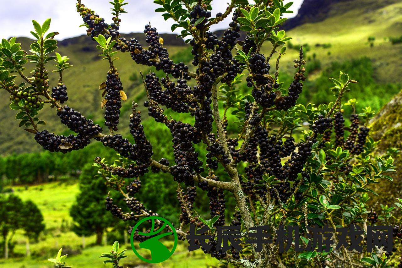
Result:
[[[287,14],[289,17],[295,16],[300,8],[303,0],[292,0],[291,10],[293,14]],[[35,4],[31,4],[35,2]],[[112,15],[109,11],[111,4],[109,0],[82,0],[83,4],[91,8],[101,17],[111,23]],[[154,4],[153,0],[126,0],[129,4],[124,6],[125,11],[120,16],[122,22],[120,25],[121,33],[132,33],[144,31],[144,26],[151,22],[152,27],[156,27],[159,33],[171,33],[170,26],[172,19],[164,21],[161,14],[154,12],[160,5]],[[228,0],[214,0],[212,14],[224,12],[227,7]],[[291,2],[284,0],[285,3]],[[16,14],[18,14],[16,16]],[[62,40],[68,37],[74,37],[85,33],[86,28],[79,26],[82,24],[82,18],[76,11],[76,0],[11,0],[7,1],[7,7],[0,9],[0,25],[2,38],[9,37],[32,37],[30,31],[33,30],[31,20],[35,19],[39,23],[43,23],[45,19],[51,18],[51,27],[49,31],[59,32],[56,39]],[[226,19],[226,23],[221,22],[211,27],[212,31],[218,29],[226,29],[229,25],[230,18]],[[178,28],[174,33],[180,33]]]

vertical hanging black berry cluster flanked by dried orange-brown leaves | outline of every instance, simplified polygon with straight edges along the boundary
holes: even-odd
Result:
[[[120,91],[123,90],[123,85],[116,68],[109,70],[106,79],[105,125],[110,129],[117,130],[121,108]]]

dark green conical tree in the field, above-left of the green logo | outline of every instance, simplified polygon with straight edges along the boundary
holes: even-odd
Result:
[[[107,187],[97,171],[90,163],[82,169],[80,193],[70,209],[70,215],[74,219],[74,233],[84,236],[96,234],[96,244],[100,245],[103,232],[113,225],[113,221],[110,213],[99,203],[99,200],[105,198]]]

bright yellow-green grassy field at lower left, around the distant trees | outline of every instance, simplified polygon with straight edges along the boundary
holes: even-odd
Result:
[[[86,267],[111,267],[103,265],[103,260],[98,258],[102,252],[108,252],[111,245],[94,245],[95,236],[85,238],[86,247],[82,248],[82,237],[69,231],[72,218],[69,215],[70,207],[75,201],[78,193],[78,183],[52,182],[37,186],[30,186],[27,189],[23,186],[14,187],[14,193],[23,200],[32,200],[42,211],[46,230],[39,237],[38,243],[31,243],[31,257],[25,257],[26,237],[18,231],[14,235],[14,254],[18,257],[9,260],[0,259],[2,268],[48,268],[52,267],[47,261],[54,258],[60,247],[69,247],[67,262],[73,268]],[[101,204],[103,207],[103,204]],[[121,243],[121,249],[127,249],[128,258],[123,259],[125,267],[146,267],[147,263],[140,261],[131,250],[131,245]],[[174,255],[165,262],[150,267],[201,267],[209,264],[216,264],[217,261],[205,256],[202,252],[188,252],[187,242],[179,241]],[[54,266],[53,266],[54,267]]]

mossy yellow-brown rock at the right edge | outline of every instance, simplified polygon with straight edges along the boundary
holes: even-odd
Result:
[[[383,155],[392,147],[402,151],[402,91],[377,113],[369,128],[374,140],[379,141],[376,154]],[[402,197],[402,153],[392,157],[396,169],[392,173],[394,181],[384,180],[375,187],[379,195],[375,204],[377,209],[379,204],[393,206],[395,198]]]

